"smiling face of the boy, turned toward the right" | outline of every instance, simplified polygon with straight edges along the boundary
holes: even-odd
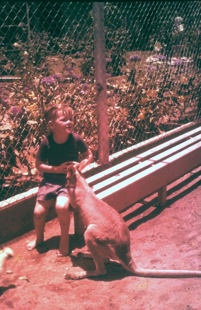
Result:
[[[48,125],[53,133],[59,133],[60,135],[69,135],[74,128],[72,116],[66,115],[62,111],[58,111],[54,119],[48,122]]]

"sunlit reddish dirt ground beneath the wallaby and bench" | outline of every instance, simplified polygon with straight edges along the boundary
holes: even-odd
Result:
[[[165,207],[156,195],[135,204],[122,216],[130,230],[131,252],[143,268],[201,270],[201,167],[168,186]],[[58,219],[46,224],[45,243],[28,252],[34,231],[9,241],[15,257],[7,261],[0,284],[0,310],[199,310],[201,278],[152,279],[136,277],[115,262],[107,275],[79,281],[63,275],[94,269],[90,259],[76,258],[84,241],[70,228],[71,256],[57,258]],[[69,270],[66,270],[68,268]],[[19,279],[26,276],[25,279]]]

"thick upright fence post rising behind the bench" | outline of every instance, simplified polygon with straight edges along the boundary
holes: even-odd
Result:
[[[97,87],[98,160],[109,163],[104,3],[93,2],[94,64]]]

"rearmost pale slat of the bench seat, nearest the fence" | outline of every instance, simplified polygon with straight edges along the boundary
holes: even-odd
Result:
[[[121,170],[125,170],[129,166],[132,166],[134,163],[138,163],[139,161],[142,161],[146,157],[153,156],[154,154],[160,152],[161,150],[170,147],[171,145],[174,145],[178,142],[182,142],[183,140],[189,139],[191,136],[200,133],[201,132],[201,126],[199,128],[196,128],[194,130],[191,130],[181,136],[178,136],[174,139],[171,139],[163,144],[160,144],[154,148],[151,148],[150,150],[143,152],[142,154],[132,157],[130,159],[127,159],[124,162],[121,162],[111,168],[108,168],[107,170],[104,170],[100,173],[97,173],[96,175],[93,175],[86,179],[89,186],[92,186],[106,178],[109,178],[113,174],[118,174]]]

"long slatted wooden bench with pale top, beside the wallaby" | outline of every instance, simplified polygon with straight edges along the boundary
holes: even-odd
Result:
[[[158,204],[166,202],[167,184],[201,164],[201,125],[195,124],[154,141],[139,153],[86,179],[97,197],[121,211],[158,192]],[[137,153],[137,154],[135,154]],[[84,232],[79,213],[74,214],[75,233]]]

